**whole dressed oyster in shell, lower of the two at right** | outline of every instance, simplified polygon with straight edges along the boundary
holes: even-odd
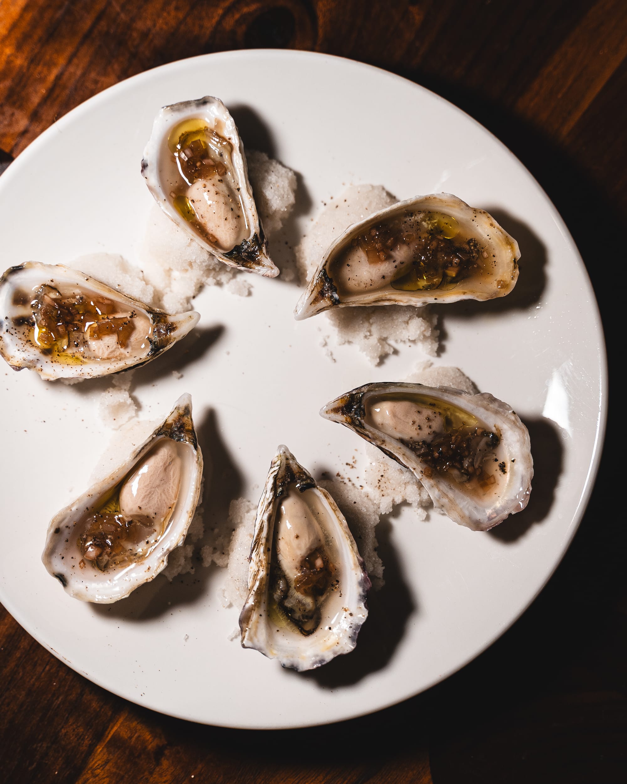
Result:
[[[491,394],[373,383],[320,414],[413,471],[433,506],[456,523],[487,531],[527,506],[534,474],[529,433]]]

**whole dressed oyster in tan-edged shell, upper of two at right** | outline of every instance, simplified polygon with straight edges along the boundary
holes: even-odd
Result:
[[[493,299],[516,285],[520,251],[482,209],[451,194],[416,196],[375,212],[337,238],[295,308]]]

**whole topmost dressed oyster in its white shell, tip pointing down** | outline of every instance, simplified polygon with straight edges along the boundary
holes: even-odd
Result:
[[[165,214],[220,261],[268,278],[279,274],[267,253],[244,146],[221,100],[163,107],[142,174]]]

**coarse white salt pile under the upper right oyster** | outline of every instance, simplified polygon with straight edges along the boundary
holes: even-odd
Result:
[[[349,226],[396,201],[381,185],[351,185],[339,197],[325,202],[295,249],[301,277],[311,278],[329,245]],[[334,341],[338,346],[353,343],[372,365],[393,354],[401,343],[418,346],[431,357],[437,353],[437,318],[429,307],[335,307],[314,318],[324,320],[321,345],[333,361]]]

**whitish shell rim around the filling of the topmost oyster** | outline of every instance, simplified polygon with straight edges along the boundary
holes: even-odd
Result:
[[[240,187],[242,201],[250,226],[250,234],[241,245],[237,245],[227,253],[209,243],[190,227],[190,223],[172,205],[169,193],[166,192],[166,190],[169,191],[169,188],[166,189],[163,183],[161,183],[161,162],[165,159],[165,156],[171,155],[168,147],[170,132],[179,122],[195,118],[204,118],[210,129],[214,128],[216,121],[221,122],[223,128],[226,129],[227,140],[233,146],[234,173]],[[198,100],[173,103],[171,106],[161,108],[161,111],[154,119],[150,140],[143,153],[142,174],[150,193],[153,194],[165,214],[194,241],[198,242],[199,245],[211,252],[220,261],[228,264],[229,267],[256,272],[259,275],[264,275],[266,278],[275,278],[279,274],[278,268],[274,265],[270,256],[268,256],[267,241],[259,220],[252,187],[248,181],[248,167],[246,165],[244,145],[241,142],[234,119],[219,98],[205,96]]]

